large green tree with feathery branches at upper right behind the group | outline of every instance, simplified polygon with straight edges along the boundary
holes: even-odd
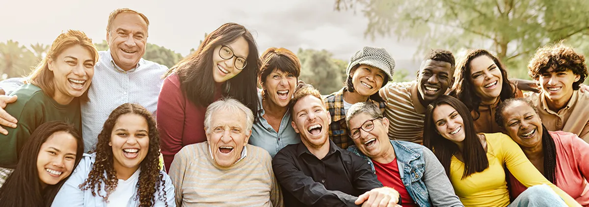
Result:
[[[361,11],[366,36],[412,39],[419,52],[488,49],[518,78],[529,78],[527,62],[540,46],[564,41],[589,52],[587,0],[336,0],[335,8]]]

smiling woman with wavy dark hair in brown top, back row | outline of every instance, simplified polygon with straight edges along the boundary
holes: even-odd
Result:
[[[471,111],[476,132],[495,133],[495,108],[505,99],[521,97],[522,92],[507,79],[505,66],[484,49],[469,52],[456,67],[456,83],[449,95],[458,98]]]

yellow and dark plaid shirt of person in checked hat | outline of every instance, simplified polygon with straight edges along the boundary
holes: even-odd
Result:
[[[354,145],[354,141],[352,141],[352,138],[350,138],[349,135],[348,125],[346,124],[346,110],[343,108],[344,91],[346,91],[346,87],[323,97],[325,108],[329,111],[332,118],[332,123],[329,125],[329,138],[332,139],[335,145],[342,149]],[[377,104],[381,112],[385,110],[385,102],[376,102],[371,99],[368,100]]]

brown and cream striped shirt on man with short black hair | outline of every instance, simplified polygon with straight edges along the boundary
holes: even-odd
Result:
[[[389,138],[421,144],[425,107],[419,102],[417,81],[390,82],[380,89],[386,101],[384,115],[391,122]]]

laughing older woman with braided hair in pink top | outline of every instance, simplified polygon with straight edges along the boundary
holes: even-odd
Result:
[[[548,131],[527,99],[508,99],[497,108],[495,121],[518,143],[525,156],[551,183],[578,203],[589,206],[589,143],[574,133]],[[509,193],[517,198],[525,186],[510,175]]]

